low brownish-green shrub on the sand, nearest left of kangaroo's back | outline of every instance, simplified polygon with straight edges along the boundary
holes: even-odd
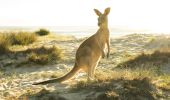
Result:
[[[26,52],[29,54],[28,61],[41,65],[55,63],[62,59],[62,51],[55,46],[51,48],[42,46],[40,48],[29,49]]]

